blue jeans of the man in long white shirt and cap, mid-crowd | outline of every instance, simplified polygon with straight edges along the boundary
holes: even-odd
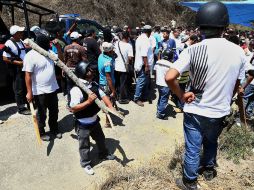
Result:
[[[146,75],[145,69],[142,68],[139,72],[137,72],[137,84],[136,90],[134,94],[134,101],[140,100],[141,98],[148,98],[148,82],[149,76]]]

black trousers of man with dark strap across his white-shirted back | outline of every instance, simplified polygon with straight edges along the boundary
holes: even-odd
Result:
[[[128,73],[115,71],[115,79],[119,100],[129,99]]]

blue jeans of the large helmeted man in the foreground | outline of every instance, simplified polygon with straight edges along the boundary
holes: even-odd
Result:
[[[196,180],[199,166],[214,167],[216,164],[218,137],[223,127],[222,118],[208,118],[184,113],[185,155],[183,175],[187,180]],[[203,156],[200,151],[203,145]]]

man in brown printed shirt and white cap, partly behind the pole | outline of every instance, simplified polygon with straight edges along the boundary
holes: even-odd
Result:
[[[87,61],[86,48],[79,45],[79,38],[81,35],[78,32],[72,32],[70,35],[72,43],[64,48],[64,63],[71,70],[75,70],[76,65],[81,61]],[[65,77],[63,73],[63,77]],[[69,77],[66,77],[67,82],[67,100],[70,103],[70,90],[73,86],[73,82]]]

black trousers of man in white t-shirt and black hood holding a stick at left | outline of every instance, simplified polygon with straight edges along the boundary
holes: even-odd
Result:
[[[49,110],[48,125],[50,132],[58,132],[58,98],[57,93],[53,92],[50,94],[41,94],[34,96],[35,105],[37,107],[37,119],[40,134],[45,133],[44,127],[46,126],[47,109]]]

